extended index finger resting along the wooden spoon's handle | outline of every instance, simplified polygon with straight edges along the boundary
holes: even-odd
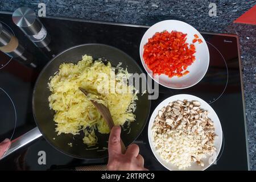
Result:
[[[121,127],[114,126],[110,131],[109,135],[109,158],[117,154],[121,154],[121,143],[120,143]]]

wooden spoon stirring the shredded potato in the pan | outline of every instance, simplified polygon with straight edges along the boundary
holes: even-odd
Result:
[[[82,93],[85,94],[85,96],[88,95],[88,92],[79,87],[79,89],[81,90]],[[106,107],[105,105],[103,104],[100,104],[96,101],[93,101],[93,100],[90,100],[92,102],[92,104],[96,107],[96,109],[101,113],[102,117],[104,118],[104,120],[107,122],[108,126],[109,126],[109,129],[111,130],[114,125],[114,122],[113,122],[113,118],[110,114],[110,111],[109,111],[109,108]],[[122,139],[120,139],[120,143],[121,143],[121,150],[122,150],[122,154],[125,154],[125,151],[126,151],[126,147],[125,147],[125,144],[123,143]]]

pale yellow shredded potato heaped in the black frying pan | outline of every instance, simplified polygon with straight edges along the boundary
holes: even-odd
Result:
[[[112,76],[115,79],[111,79]],[[113,68],[109,62],[105,65],[87,55],[77,64],[61,64],[59,72],[51,76],[48,83],[51,91],[49,107],[55,111],[57,134],[77,135],[84,131],[84,143],[93,146],[97,144],[96,130],[102,134],[110,132],[90,100],[108,106],[115,125],[134,122],[138,97],[134,86],[127,85],[129,76],[119,65]],[[88,90],[88,96],[79,87]]]

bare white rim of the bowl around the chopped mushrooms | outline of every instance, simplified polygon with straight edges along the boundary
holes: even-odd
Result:
[[[150,143],[150,147],[152,152],[155,155],[155,158],[158,159],[158,161],[167,169],[169,170],[180,170],[179,168],[177,168],[174,164],[168,163],[166,162],[164,159],[160,158],[160,155],[158,154],[158,152],[156,152],[155,146],[154,146],[154,142],[152,140],[152,126],[154,123],[154,120],[156,118],[156,115],[158,114],[158,111],[160,109],[162,109],[162,107],[167,106],[170,102],[173,101],[183,101],[183,100],[188,100],[188,101],[199,101],[201,103],[201,108],[204,110],[208,110],[209,114],[208,117],[210,119],[212,119],[213,121],[213,125],[215,128],[215,133],[218,137],[215,138],[214,140],[214,146],[216,147],[216,152],[214,153],[214,155],[212,156],[207,156],[207,158],[202,159],[204,162],[204,167],[198,166],[195,162],[191,164],[191,167],[186,168],[185,170],[189,170],[189,171],[203,171],[205,169],[207,169],[209,166],[211,166],[213,164],[213,162],[216,161],[218,154],[220,153],[221,150],[221,145],[222,145],[222,129],[221,129],[221,123],[220,123],[220,119],[218,119],[217,114],[215,113],[215,111],[212,109],[212,107],[205,102],[204,100],[202,100],[199,97],[196,96],[192,96],[189,94],[179,94],[179,95],[175,95],[175,96],[171,96],[169,98],[167,98],[166,100],[162,101],[154,110],[154,112],[151,115],[150,118],[150,122],[148,123],[148,141]]]

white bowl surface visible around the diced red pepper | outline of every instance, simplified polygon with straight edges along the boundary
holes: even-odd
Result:
[[[144,59],[143,59],[144,45],[148,42],[148,39],[152,38],[152,36],[156,32],[162,32],[164,30],[167,30],[168,32],[171,32],[172,30],[180,31],[180,32],[183,32],[184,34],[187,34],[186,42],[189,44],[192,43],[192,40],[194,39],[195,34],[197,34],[199,36],[199,39],[203,41],[203,43],[201,44],[199,44],[198,42],[195,43],[196,60],[194,61],[194,63],[192,63],[192,65],[190,65],[187,68],[187,70],[189,71],[187,75],[184,75],[182,77],[174,76],[172,78],[166,75],[152,76],[152,71],[147,67],[147,64],[144,62]],[[149,73],[151,78],[154,79],[156,82],[158,82],[160,85],[163,85],[163,86],[166,86],[167,88],[172,88],[172,89],[185,89],[197,84],[207,72],[207,69],[209,66],[209,59],[210,59],[209,49],[207,47],[207,43],[205,42],[203,36],[199,33],[199,31],[196,30],[196,28],[192,27],[187,23],[181,22],[179,20],[164,20],[148,28],[148,30],[145,32],[141,40],[141,45],[139,46],[139,54],[141,56],[142,65],[144,69],[146,69],[147,73]]]

